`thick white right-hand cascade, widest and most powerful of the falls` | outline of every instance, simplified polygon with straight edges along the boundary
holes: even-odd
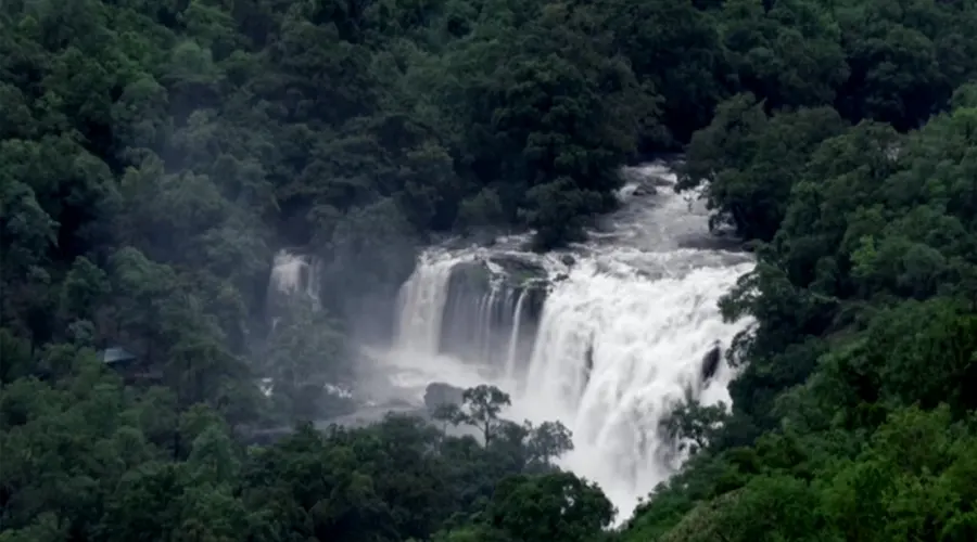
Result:
[[[694,255],[659,256],[664,270]],[[701,360],[743,328],[722,321],[716,301],[751,266],[647,280],[585,261],[547,298],[525,378],[532,393],[517,397],[517,412],[562,421],[575,447],[563,465],[598,481],[622,514],[680,466],[659,422],[685,393],[729,400],[729,367],[703,383]]]

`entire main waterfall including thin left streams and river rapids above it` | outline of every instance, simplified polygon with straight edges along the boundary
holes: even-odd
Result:
[[[424,253],[385,361],[395,386],[494,383],[512,395],[507,417],[563,422],[575,446],[563,466],[597,481],[619,518],[680,466],[663,416],[685,393],[729,400],[725,361],[708,379],[701,362],[749,324],[723,322],[716,304],[753,266],[715,245],[667,167],[625,175],[623,208],[570,251],[533,255],[509,237]]]

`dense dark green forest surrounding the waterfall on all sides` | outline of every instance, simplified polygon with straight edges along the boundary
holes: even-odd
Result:
[[[964,0],[4,0],[0,542],[977,540],[975,28]],[[756,254],[721,307],[756,325],[732,411],[676,410],[690,459],[619,527],[503,390],[310,424],[418,247],[560,246],[676,152]],[[322,257],[320,310],[269,307],[282,247]]]

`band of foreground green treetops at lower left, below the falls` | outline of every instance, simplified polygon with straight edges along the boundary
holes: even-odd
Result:
[[[562,450],[548,429],[482,446],[390,415],[244,447],[214,411],[180,412],[167,390],[135,392],[90,352],[76,356],[69,386],[4,388],[2,540],[427,540],[457,518],[482,526],[483,508],[504,540],[531,540],[531,527],[505,521],[540,495],[578,503],[545,505],[575,537],[612,517],[599,489],[553,466]]]

